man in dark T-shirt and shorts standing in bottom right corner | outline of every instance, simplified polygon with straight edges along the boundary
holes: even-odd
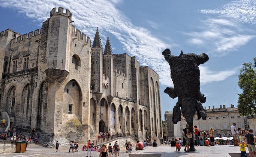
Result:
[[[247,142],[246,142],[247,139]],[[253,135],[253,129],[249,130],[249,133],[247,133],[244,138],[243,141],[246,142],[247,146],[248,146],[248,150],[249,150],[249,157],[255,157],[255,142],[256,142],[256,137]],[[253,153],[253,155],[252,155]]]

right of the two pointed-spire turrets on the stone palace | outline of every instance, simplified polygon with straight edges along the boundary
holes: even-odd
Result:
[[[113,95],[113,54],[111,49],[111,44],[109,41],[109,37],[106,41],[104,55],[103,55],[103,74],[109,77],[109,88],[108,95]]]

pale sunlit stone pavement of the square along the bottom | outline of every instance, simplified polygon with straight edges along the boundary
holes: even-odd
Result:
[[[29,147],[25,153],[2,153],[0,157],[86,157],[87,151],[82,151],[82,148],[78,149],[78,152],[69,153],[69,147],[60,147],[58,152],[55,148],[44,148],[44,147]],[[161,157],[236,157],[240,156],[240,147],[234,145],[219,145],[219,146],[200,146],[195,147],[197,151],[186,153],[183,151],[184,147],[181,148],[180,152],[175,152],[175,147],[169,145],[160,145],[159,147],[145,147],[142,151],[134,151],[132,154],[162,154]],[[126,148],[121,147],[119,157],[129,157],[128,153],[125,153]],[[247,155],[249,151],[246,148]],[[230,153],[233,153],[231,155]],[[235,155],[234,155],[235,154]],[[89,154],[90,156],[90,154]],[[92,152],[91,157],[99,157],[99,152]]]

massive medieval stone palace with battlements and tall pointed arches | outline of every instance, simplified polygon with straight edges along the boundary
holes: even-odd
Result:
[[[109,38],[103,51],[98,28],[92,44],[72,22],[72,13],[59,7],[40,30],[0,33],[0,111],[9,116],[7,127],[35,127],[68,140],[99,132],[162,138],[158,74],[134,56],[113,54]]]

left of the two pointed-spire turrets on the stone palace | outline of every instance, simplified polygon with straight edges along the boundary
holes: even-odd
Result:
[[[95,92],[102,93],[102,55],[103,48],[97,28],[91,48],[91,87]]]

